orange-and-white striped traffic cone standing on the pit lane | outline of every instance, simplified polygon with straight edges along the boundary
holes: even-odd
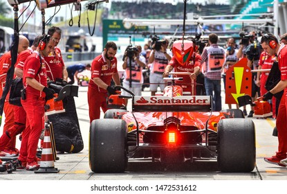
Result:
[[[50,130],[48,129],[45,130],[40,168],[39,170],[35,171],[35,173],[59,173],[59,170],[54,166],[54,157],[50,141]]]

